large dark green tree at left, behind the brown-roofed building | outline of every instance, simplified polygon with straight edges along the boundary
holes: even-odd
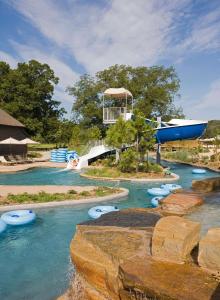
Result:
[[[53,99],[59,79],[47,65],[36,60],[11,69],[0,62],[0,106],[22,122],[31,136],[53,141],[65,113]]]

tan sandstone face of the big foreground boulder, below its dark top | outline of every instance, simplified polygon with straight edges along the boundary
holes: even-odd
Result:
[[[152,228],[136,230],[78,225],[71,242],[71,257],[77,273],[84,278],[87,286],[92,286],[103,299],[118,300],[121,285],[118,279],[119,263],[138,253],[147,253],[147,250],[150,254],[151,237]],[[97,299],[92,294],[95,292],[87,289],[85,299]]]

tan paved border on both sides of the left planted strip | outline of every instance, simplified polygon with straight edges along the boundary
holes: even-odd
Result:
[[[94,189],[94,186],[0,186],[1,195],[5,193],[7,195],[9,192],[13,194],[19,194],[23,192],[30,192],[30,193],[39,193],[40,191],[45,191],[51,193],[59,192],[65,193],[68,190],[76,190],[77,192],[82,191],[89,191]],[[103,197],[90,197],[90,198],[83,198],[79,200],[63,200],[63,201],[51,201],[51,202],[44,202],[44,203],[26,203],[26,204],[13,204],[13,205],[2,205],[0,206],[0,211],[7,211],[7,210],[16,210],[16,209],[32,209],[32,208],[48,208],[48,207],[58,207],[58,206],[72,206],[72,205],[79,205],[79,204],[89,204],[95,202],[105,202],[111,201],[116,199],[122,199],[128,196],[129,190],[125,188],[119,188],[121,191],[119,193],[103,196]],[[1,201],[0,201],[1,203]]]

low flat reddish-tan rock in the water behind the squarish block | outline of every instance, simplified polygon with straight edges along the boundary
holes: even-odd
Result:
[[[192,193],[170,194],[161,202],[161,213],[164,215],[185,215],[195,207],[203,204],[203,198]]]

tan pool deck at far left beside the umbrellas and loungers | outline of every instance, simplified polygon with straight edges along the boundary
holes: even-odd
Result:
[[[0,165],[0,173],[14,173],[19,171],[25,171],[32,168],[66,168],[66,163],[54,163],[51,161],[36,161],[26,164],[17,165]]]

